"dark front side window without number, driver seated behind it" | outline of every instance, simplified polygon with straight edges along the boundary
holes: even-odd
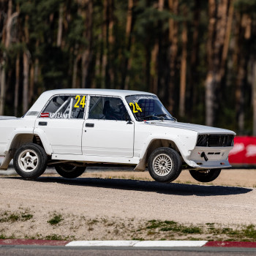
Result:
[[[126,121],[129,114],[120,98],[91,97],[89,118]]]

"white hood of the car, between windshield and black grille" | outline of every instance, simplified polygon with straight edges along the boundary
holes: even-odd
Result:
[[[177,121],[169,121],[169,120],[163,120],[163,121],[148,121],[151,125],[157,125],[161,127],[173,127],[178,129],[189,129],[195,132],[198,132],[199,134],[233,134],[236,135],[235,132],[230,131],[229,129],[221,129],[221,128],[215,128],[215,127],[207,127],[205,125],[200,124],[187,124],[187,123],[180,123]]]

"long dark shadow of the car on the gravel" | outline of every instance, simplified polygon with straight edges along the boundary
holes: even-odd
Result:
[[[17,178],[17,177],[15,177]],[[83,187],[102,187],[110,189],[135,190],[143,192],[157,192],[166,195],[197,195],[197,196],[217,196],[217,195],[240,195],[251,192],[252,189],[244,187],[225,187],[195,184],[162,184],[157,181],[138,181],[119,178],[74,178],[66,179],[61,177],[39,177],[37,182],[59,183]],[[29,182],[29,181],[28,181]]]

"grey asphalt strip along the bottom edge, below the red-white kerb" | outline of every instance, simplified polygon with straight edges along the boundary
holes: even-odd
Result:
[[[3,256],[80,256],[80,255],[104,255],[104,256],[165,256],[165,255],[256,255],[256,248],[244,247],[67,247],[67,246],[26,246],[26,245],[1,245],[0,255]]]

